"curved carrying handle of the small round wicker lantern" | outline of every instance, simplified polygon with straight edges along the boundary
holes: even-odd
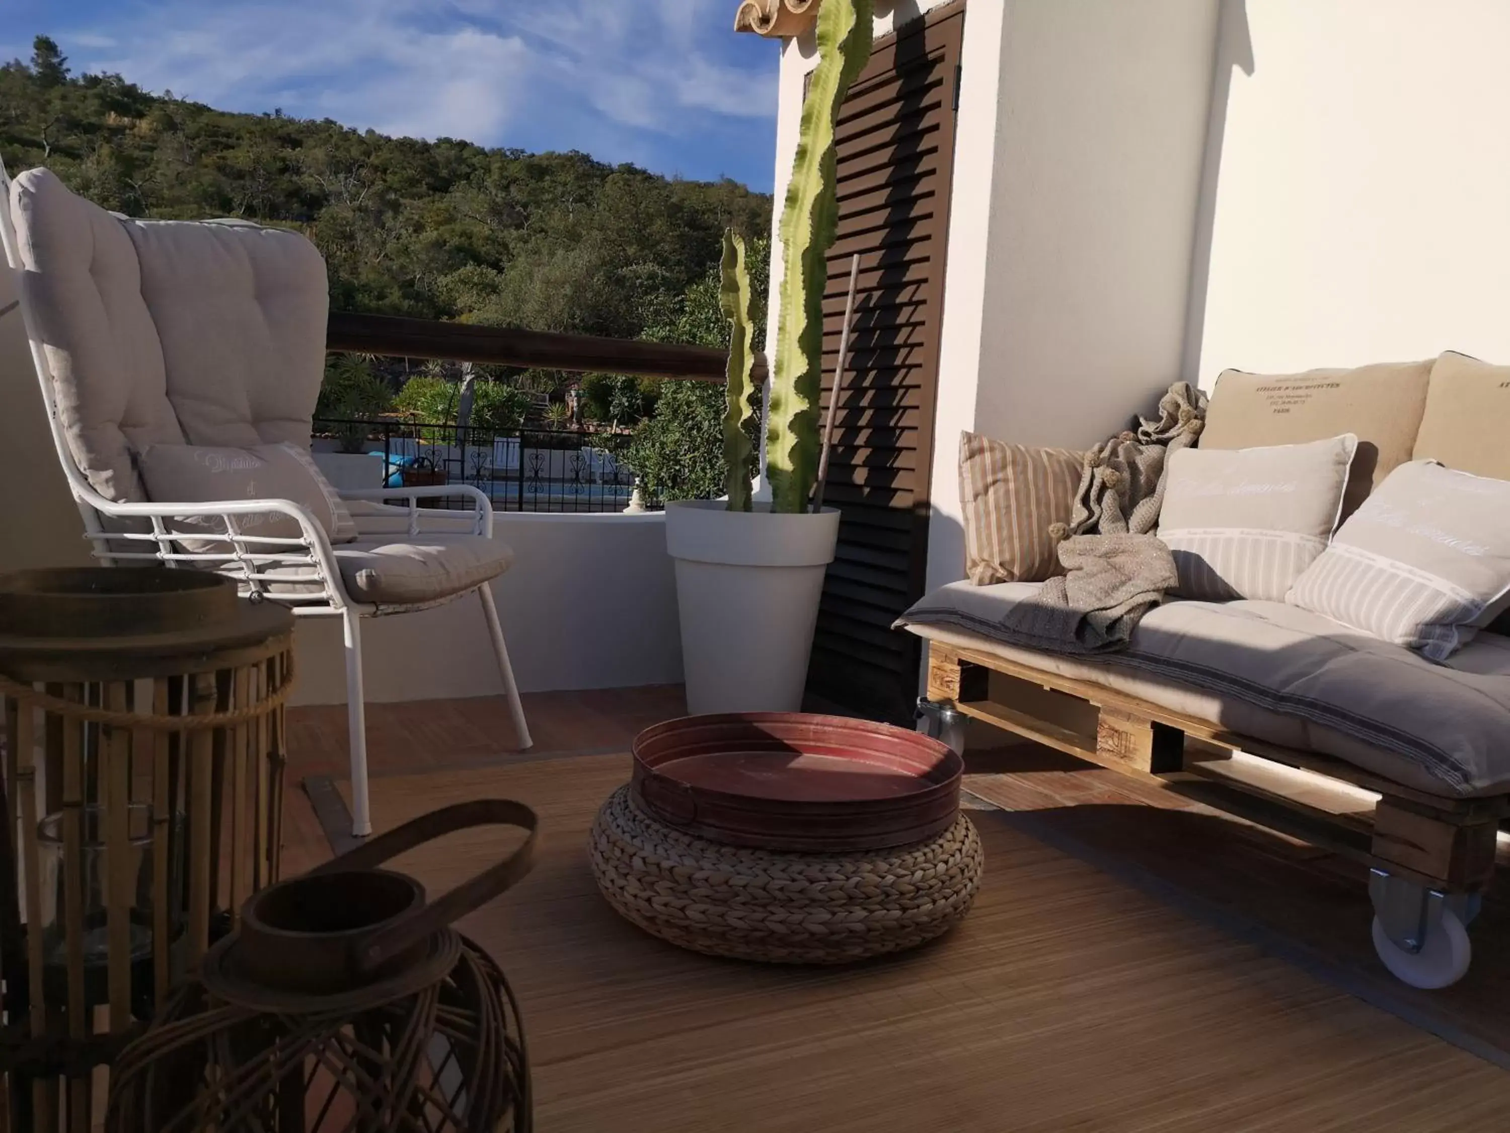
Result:
[[[528,873],[535,866],[539,819],[533,810],[512,799],[458,802],[453,807],[442,807],[412,822],[406,822],[397,829],[381,834],[356,849],[350,849],[338,858],[332,858],[323,866],[310,870],[313,876],[319,873],[376,869],[405,851],[473,826],[518,826],[528,831],[528,837],[513,854],[498,864],[488,867],[471,881],[462,882],[444,897],[382,925],[364,937],[353,947],[352,956],[361,971],[370,973],[376,970],[385,961],[417,944],[420,940],[439,932],[473,909],[482,908]]]

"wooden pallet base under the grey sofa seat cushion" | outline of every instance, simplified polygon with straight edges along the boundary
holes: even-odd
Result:
[[[929,647],[929,699],[1433,888],[1477,893],[1493,878],[1510,796],[1436,798],[1329,755],[938,642]]]

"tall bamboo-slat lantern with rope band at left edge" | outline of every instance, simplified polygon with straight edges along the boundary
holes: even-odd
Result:
[[[0,576],[12,1128],[92,1077],[278,878],[293,616],[166,568]]]

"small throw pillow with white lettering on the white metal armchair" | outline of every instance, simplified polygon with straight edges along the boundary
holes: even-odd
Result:
[[[356,523],[314,459],[296,444],[255,444],[249,449],[199,444],[153,444],[140,456],[142,480],[154,503],[214,503],[219,500],[290,500],[310,511],[332,542],[356,538]],[[222,530],[214,517],[177,517],[186,527]],[[237,517],[243,535],[297,539],[299,523],[282,512]],[[190,550],[225,550],[216,541],[181,539]]]

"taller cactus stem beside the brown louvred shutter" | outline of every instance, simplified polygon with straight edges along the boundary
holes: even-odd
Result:
[[[781,213],[781,319],[766,426],[766,473],[776,512],[806,511],[818,477],[823,289],[838,233],[835,119],[870,59],[871,9],[873,0],[824,0],[818,9],[818,66],[802,103]]]

